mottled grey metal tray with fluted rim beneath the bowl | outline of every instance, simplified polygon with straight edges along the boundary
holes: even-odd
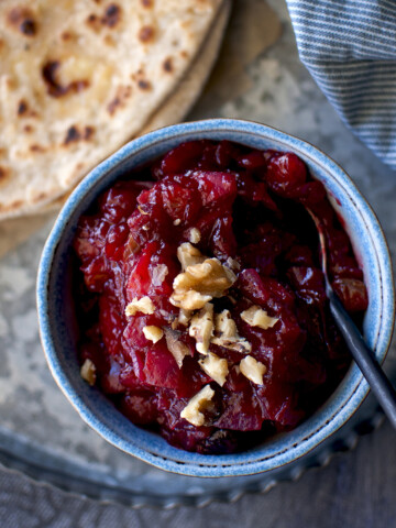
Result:
[[[355,179],[396,248],[394,173],[381,164],[339,120],[299,63],[284,2],[270,0],[284,33],[270,51],[244,66],[250,79],[232,100],[205,94],[191,119],[235,117],[265,122],[318,145]],[[222,92],[221,92],[222,94]],[[215,101],[215,103],[213,103]],[[333,453],[352,448],[376,428],[382,414],[371,396],[355,416],[297,463],[249,477],[193,479],[162,472],[108,444],[63,396],[46,366],[38,340],[35,275],[53,216],[0,224],[0,462],[48,485],[132,507],[204,506],[235,501],[296,480]],[[386,360],[396,381],[396,350]]]

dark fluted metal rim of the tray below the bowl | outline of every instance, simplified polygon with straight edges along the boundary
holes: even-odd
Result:
[[[175,494],[173,496],[133,493],[122,488],[122,486],[105,485],[99,480],[92,482],[89,479],[86,480],[85,484],[88,482],[90,488],[88,492],[81,491],[78,490],[82,482],[80,477],[70,476],[67,472],[41,468],[29,460],[29,458],[15,455],[1,444],[0,471],[12,472],[28,479],[34,485],[45,486],[50,490],[56,488],[78,498],[95,501],[99,505],[112,504],[127,506],[131,509],[154,507],[165,510],[182,506],[204,508],[212,503],[232,504],[248,494],[265,494],[280,482],[297,482],[307,471],[315,468],[324,468],[336,455],[353,450],[362,436],[377,430],[384,421],[384,414],[381,407],[376,405],[371,416],[356,420],[356,424],[344,436],[330,439],[326,446],[319,446],[318,451],[315,451],[314,454],[308,453],[302,460],[289,463],[278,470],[263,472],[262,477],[254,483],[242,483],[239,487],[223,490],[218,493],[209,492],[209,495],[208,492],[196,495]],[[348,428],[349,425],[346,424],[345,427]],[[63,482],[59,482],[59,480]],[[206,479],[202,477],[202,480],[205,481]]]

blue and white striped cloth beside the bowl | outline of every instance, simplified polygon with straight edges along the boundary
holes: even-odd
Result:
[[[396,0],[286,0],[300,58],[343,121],[396,169]]]

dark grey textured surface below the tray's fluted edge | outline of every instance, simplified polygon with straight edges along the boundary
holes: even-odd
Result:
[[[395,526],[396,452],[386,425],[337,455],[328,468],[311,470],[298,483],[278,484],[266,495],[202,509],[133,512],[99,505],[26,477],[0,473],[0,519],[4,528],[383,528]],[[384,453],[387,453],[384,455]]]

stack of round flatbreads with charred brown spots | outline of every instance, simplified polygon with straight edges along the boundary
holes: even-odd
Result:
[[[40,212],[100,161],[180,121],[231,0],[1,0],[0,219]]]

